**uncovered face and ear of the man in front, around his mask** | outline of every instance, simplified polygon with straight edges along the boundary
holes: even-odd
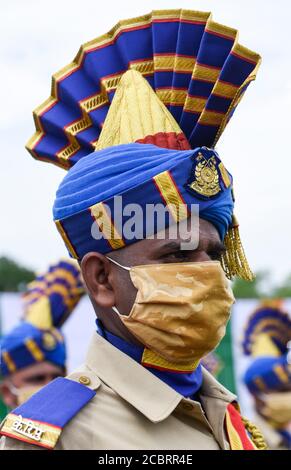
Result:
[[[225,250],[215,227],[206,220],[199,220],[199,243],[196,249],[182,250],[188,233],[187,220],[179,224],[177,237],[170,238],[169,229],[163,238],[145,239],[108,254],[125,266],[177,262],[203,262],[217,260]],[[136,298],[136,288],[127,271],[111,263],[100,253],[87,253],[81,263],[82,274],[98,318],[104,327],[126,340],[136,343],[118,316],[112,311],[117,307],[128,315]]]

